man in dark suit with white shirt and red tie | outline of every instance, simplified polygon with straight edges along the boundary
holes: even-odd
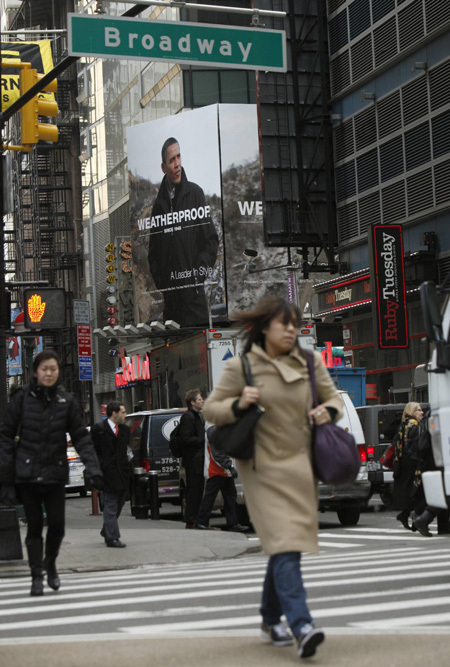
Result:
[[[107,547],[123,548],[118,518],[129,494],[130,464],[128,446],[130,429],[125,425],[125,406],[112,401],[106,407],[107,419],[95,424],[92,441],[103,473],[103,528],[100,535]]]

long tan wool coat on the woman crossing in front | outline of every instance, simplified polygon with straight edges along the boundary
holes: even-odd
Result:
[[[248,353],[253,380],[265,408],[255,428],[253,460],[237,461],[250,518],[269,556],[289,551],[317,553],[317,480],[311,466],[313,406],[306,359],[294,349],[272,359],[258,345]],[[314,353],[319,403],[342,416],[342,400],[321,355]],[[202,414],[218,426],[236,421],[233,402],[244,387],[239,357],[230,359]]]

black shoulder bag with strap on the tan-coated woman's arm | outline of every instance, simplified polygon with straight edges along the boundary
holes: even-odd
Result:
[[[245,386],[253,385],[250,362],[245,354],[241,355]],[[253,429],[264,413],[261,405],[250,405],[233,424],[211,426],[208,439],[220,452],[234,459],[251,459],[255,451]]]

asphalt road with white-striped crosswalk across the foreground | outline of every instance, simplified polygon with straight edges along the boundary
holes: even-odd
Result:
[[[89,503],[68,498],[68,525],[82,526]],[[349,528],[321,515],[321,553],[304,557],[303,572],[327,640],[309,662],[441,667],[450,650],[450,537],[407,532],[378,507]],[[179,528],[178,508],[164,507],[162,516],[167,530]],[[28,595],[28,578],[1,579],[0,665],[292,664],[292,647],[266,647],[259,638],[266,561],[260,553],[74,572],[59,592],[38,599]]]

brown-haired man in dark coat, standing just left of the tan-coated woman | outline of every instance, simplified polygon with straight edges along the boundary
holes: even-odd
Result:
[[[188,411],[180,419],[180,441],[186,470],[186,528],[195,528],[205,488],[205,422],[200,414],[204,400],[200,389],[190,389],[185,401]]]

